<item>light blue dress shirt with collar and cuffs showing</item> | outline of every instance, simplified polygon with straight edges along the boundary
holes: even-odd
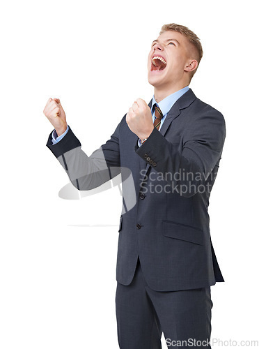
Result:
[[[153,105],[157,104],[159,106],[160,110],[163,113],[163,118],[161,120],[161,124],[160,124],[159,130],[162,128],[162,124],[164,123],[164,120],[166,119],[168,111],[171,109],[171,107],[173,107],[173,105],[178,100],[178,98],[180,98],[188,90],[189,90],[189,86],[186,86],[183,89],[180,89],[179,91],[176,91],[175,93],[170,94],[166,98],[162,99],[162,101],[160,101],[159,103],[157,103],[155,101],[155,97],[153,96],[151,110],[152,110]],[[152,119],[153,119],[153,122],[154,122],[155,121],[155,108],[154,108],[154,110],[152,110]],[[62,133],[62,135],[60,135],[58,137],[57,137],[57,134],[56,134],[56,130],[54,130],[52,132],[52,144],[56,144],[57,142],[62,140],[62,138],[68,133],[68,128],[69,128],[69,126],[67,127],[65,132]],[[140,140],[139,140],[139,147],[140,146],[141,146],[141,144],[140,144]]]

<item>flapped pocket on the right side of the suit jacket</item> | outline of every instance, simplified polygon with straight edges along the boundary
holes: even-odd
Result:
[[[203,245],[203,230],[191,227],[190,225],[163,221],[163,235],[165,237]]]

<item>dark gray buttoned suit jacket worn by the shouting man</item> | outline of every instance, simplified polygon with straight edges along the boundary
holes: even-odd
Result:
[[[52,145],[52,133],[47,141],[79,190],[96,188],[121,174],[117,281],[131,283],[138,255],[154,290],[202,288],[224,281],[207,212],[226,136],[223,115],[189,89],[171,107],[160,131],[154,128],[141,147],[125,117],[91,156],[81,150],[71,128],[57,144]]]

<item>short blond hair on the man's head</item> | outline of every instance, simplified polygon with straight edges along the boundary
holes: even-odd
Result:
[[[199,65],[201,58],[203,57],[203,47],[201,46],[201,41],[198,38],[198,36],[196,36],[196,34],[194,34],[194,32],[191,31],[189,28],[187,28],[183,25],[180,25],[180,24],[175,24],[175,23],[164,24],[163,27],[161,28],[159,35],[164,33],[164,31],[169,31],[169,30],[178,31],[180,34],[182,34],[183,36],[185,36],[188,39],[189,43],[191,44],[192,47],[194,47],[194,49],[196,50],[196,52],[198,54],[198,56],[196,57],[196,61],[198,61],[198,65]],[[197,66],[197,68],[198,68],[198,66]],[[191,78],[196,73],[197,68],[191,72],[190,81],[191,81]]]

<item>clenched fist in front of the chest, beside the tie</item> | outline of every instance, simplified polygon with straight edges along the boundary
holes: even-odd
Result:
[[[154,129],[150,107],[141,98],[137,98],[126,115],[127,126],[141,140],[148,138]]]

